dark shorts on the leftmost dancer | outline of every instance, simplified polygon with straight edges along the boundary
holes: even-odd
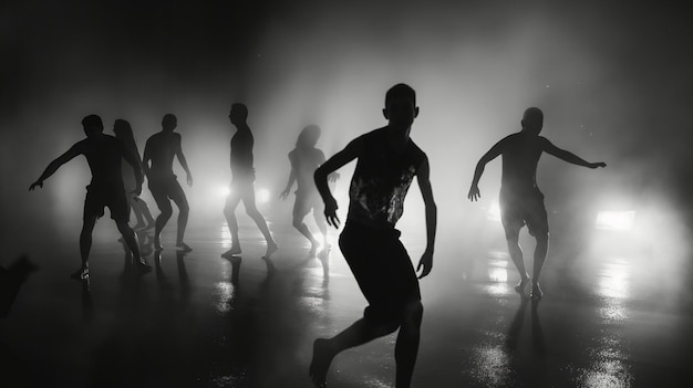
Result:
[[[125,197],[125,189],[117,185],[90,185],[86,187],[84,199],[84,220],[101,218],[104,208],[108,207],[111,218],[115,221],[130,221],[130,207]]]

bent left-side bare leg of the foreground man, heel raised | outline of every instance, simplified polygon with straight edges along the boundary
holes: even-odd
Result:
[[[356,321],[337,336],[318,338],[313,343],[313,358],[309,375],[316,387],[327,387],[328,369],[334,356],[348,348],[363,345],[397,329],[396,325],[375,325],[365,318]]]

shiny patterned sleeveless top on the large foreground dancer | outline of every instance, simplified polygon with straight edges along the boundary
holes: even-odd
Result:
[[[393,229],[404,211],[404,197],[426,159],[411,139],[403,150],[387,145],[386,128],[361,137],[363,149],[349,189],[349,219],[376,229]]]

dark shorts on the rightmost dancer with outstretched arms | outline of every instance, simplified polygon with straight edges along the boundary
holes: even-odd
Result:
[[[549,221],[544,206],[544,193],[534,189],[525,193],[500,192],[500,221],[506,235],[525,224],[531,235],[547,234]]]

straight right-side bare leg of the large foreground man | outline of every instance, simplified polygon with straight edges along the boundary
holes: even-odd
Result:
[[[397,377],[395,387],[408,388],[412,385],[412,375],[418,354],[420,329],[424,307],[420,301],[411,303],[406,307],[406,315],[400,327],[397,343],[395,345],[395,361],[397,364]]]

